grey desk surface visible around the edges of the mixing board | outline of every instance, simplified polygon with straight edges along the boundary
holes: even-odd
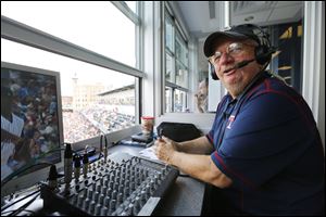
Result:
[[[139,155],[142,148],[133,148],[125,145],[116,145],[109,149],[109,155],[115,152],[126,152],[130,155]],[[202,209],[205,184],[190,177],[177,177],[171,190],[165,194],[155,210],[155,215],[160,216],[199,216]],[[30,196],[32,199],[33,196]],[[25,204],[30,199],[24,200],[20,205]],[[18,205],[17,204],[17,205]],[[17,205],[11,207],[12,210],[18,208]],[[5,209],[5,212],[11,208]],[[42,199],[38,197],[26,209],[36,212],[37,215],[60,215],[58,213],[47,213],[42,208]],[[10,214],[10,213],[9,213]],[[28,213],[21,213],[28,215]],[[30,213],[29,213],[30,214]],[[20,215],[20,214],[17,214]],[[2,216],[2,215],[1,215]]]

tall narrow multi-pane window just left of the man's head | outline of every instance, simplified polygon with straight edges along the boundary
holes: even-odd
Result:
[[[177,21],[165,10],[165,112],[187,112],[188,48]]]

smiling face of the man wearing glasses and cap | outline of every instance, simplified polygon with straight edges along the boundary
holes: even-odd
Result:
[[[215,61],[215,73],[233,98],[236,98],[243,91],[261,68],[261,65],[252,62],[244,67],[224,73],[224,71],[234,67],[237,63],[254,59],[255,44],[250,42],[248,40],[222,38],[215,44],[215,52],[220,51],[222,53],[218,61]]]

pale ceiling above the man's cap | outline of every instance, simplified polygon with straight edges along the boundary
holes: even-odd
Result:
[[[222,1],[178,1],[189,33],[204,38],[221,29],[218,14],[224,13]],[[230,1],[230,25],[253,23],[274,25],[297,22],[302,18],[302,1]]]

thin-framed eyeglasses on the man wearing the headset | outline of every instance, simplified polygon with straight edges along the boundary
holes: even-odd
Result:
[[[243,53],[244,51],[244,46],[250,46],[250,47],[254,47],[253,44],[248,44],[248,43],[241,43],[241,42],[234,42],[230,43],[227,48],[226,48],[226,54],[236,58],[240,54]],[[217,65],[220,63],[221,56],[223,55],[223,52],[221,51],[216,51],[214,53],[214,55],[209,58],[209,61],[211,64],[213,65]]]

